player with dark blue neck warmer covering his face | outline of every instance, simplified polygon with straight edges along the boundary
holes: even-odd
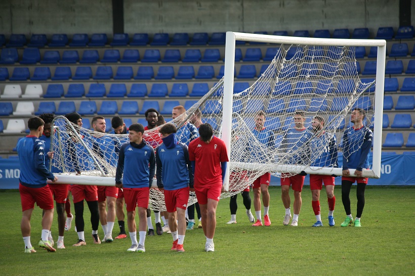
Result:
[[[164,190],[164,201],[169,213],[169,226],[173,236],[172,250],[184,252],[186,233],[186,206],[189,187],[193,188],[193,171],[186,145],[177,141],[174,124],[164,124],[160,129],[163,144],[155,150],[157,187]]]

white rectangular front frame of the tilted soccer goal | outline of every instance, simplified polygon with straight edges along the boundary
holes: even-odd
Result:
[[[223,121],[222,121],[222,139],[228,149],[228,157],[230,158],[231,149],[231,129],[232,129],[232,103],[233,103],[233,87],[234,87],[234,70],[235,70],[235,41],[249,42],[266,42],[278,44],[293,45],[318,45],[318,46],[363,46],[377,47],[377,70],[376,70],[376,88],[375,88],[375,121],[374,121],[374,144],[373,144],[373,161],[372,168],[363,170],[364,177],[379,178],[381,175],[381,151],[382,151],[382,114],[383,114],[383,95],[385,80],[385,60],[386,60],[386,41],[382,39],[331,39],[331,38],[307,38],[307,37],[289,37],[278,35],[252,34],[241,32],[226,32],[225,46],[225,71],[224,71],[224,96],[223,96]],[[380,135],[378,135],[380,134]],[[244,169],[258,170],[263,164],[260,163],[235,163],[236,167]],[[306,167],[292,166],[287,168],[281,165],[271,167],[273,172],[286,171],[288,173],[305,171],[311,174],[324,175],[342,175],[342,168],[328,167]],[[354,169],[350,169],[350,173],[354,173]],[[224,186],[229,187],[229,166],[225,176]]]

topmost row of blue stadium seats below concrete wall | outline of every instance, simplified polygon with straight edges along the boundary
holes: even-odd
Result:
[[[268,34],[266,31],[255,32],[258,34]],[[275,31],[273,35],[287,36],[288,31]],[[400,26],[395,33],[393,27],[380,27],[378,29],[376,39],[410,39],[413,37],[414,31],[413,26]],[[298,37],[310,37],[308,30],[297,30],[293,33],[293,36]],[[330,35],[328,29],[316,30],[314,37],[318,38],[350,38],[349,29],[335,29],[333,35]],[[352,38],[356,39],[368,39],[370,37],[368,28],[355,28],[352,33]],[[169,33],[155,33],[152,37],[150,45],[203,45],[203,44],[225,44],[226,33],[225,32],[214,32],[211,37],[206,32],[194,33],[192,39],[188,33],[175,33],[170,40]],[[136,33],[133,35],[130,41],[128,33],[115,33],[113,35],[111,46],[115,45],[147,45],[149,43],[148,33]],[[240,41],[243,42],[243,41]],[[27,39],[24,34],[11,34],[9,41],[6,41],[4,34],[0,34],[0,47],[6,45],[7,47],[23,47],[26,45]],[[243,42],[244,43],[244,42]],[[253,42],[251,42],[253,43]],[[108,37],[105,33],[94,33],[91,38],[86,33],[77,33],[72,36],[72,40],[69,43],[69,38],[66,34],[53,34],[50,42],[46,34],[32,34],[29,43],[29,47],[45,47],[48,44],[49,47],[65,47],[69,44],[70,47],[101,47],[108,44]]]

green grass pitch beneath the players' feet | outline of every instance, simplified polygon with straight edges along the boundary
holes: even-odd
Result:
[[[352,190],[352,214],[356,210]],[[322,191],[322,195],[324,191]],[[215,252],[204,252],[201,229],[186,232],[186,252],[171,252],[172,236],[147,237],[145,253],[128,253],[130,239],[112,244],[93,244],[89,211],[86,208],[87,246],[74,248],[77,240],[72,227],[65,232],[66,249],[48,253],[37,248],[41,210],[32,216],[31,242],[37,253],[24,254],[20,232],[21,207],[17,191],[0,193],[0,267],[2,275],[31,274],[411,274],[415,273],[415,189],[412,187],[368,187],[361,228],[340,227],[345,218],[340,187],[336,226],[329,227],[323,197],[324,227],[311,225],[315,217],[309,187],[303,190],[303,206],[298,227],[283,226],[284,208],[279,187],[270,188],[270,227],[252,227],[242,197],[238,197],[237,224],[228,225],[229,199],[221,200],[217,211]],[[293,195],[292,202],[293,202]],[[253,194],[251,193],[251,197]],[[254,213],[254,206],[252,206]],[[73,206],[72,206],[73,211]],[[126,223],[127,224],[127,223]],[[72,224],[74,225],[74,224]],[[116,233],[115,233],[116,232]],[[52,233],[57,241],[56,215]],[[114,234],[118,233],[115,223]],[[103,237],[99,227],[100,237]]]

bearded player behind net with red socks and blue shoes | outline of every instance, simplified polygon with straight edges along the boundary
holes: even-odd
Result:
[[[337,143],[336,136],[329,134],[323,130],[324,118],[321,116],[314,116],[311,121],[311,130],[314,133],[314,139],[311,141],[311,152],[317,156],[313,167],[339,167],[337,163]],[[328,202],[328,225],[335,226],[333,212],[336,205],[335,191],[335,177],[331,175],[310,174],[310,189],[312,195],[311,205],[313,207],[314,215],[316,216],[316,223],[314,227],[323,226],[320,215],[320,191],[323,187],[327,194]]]

